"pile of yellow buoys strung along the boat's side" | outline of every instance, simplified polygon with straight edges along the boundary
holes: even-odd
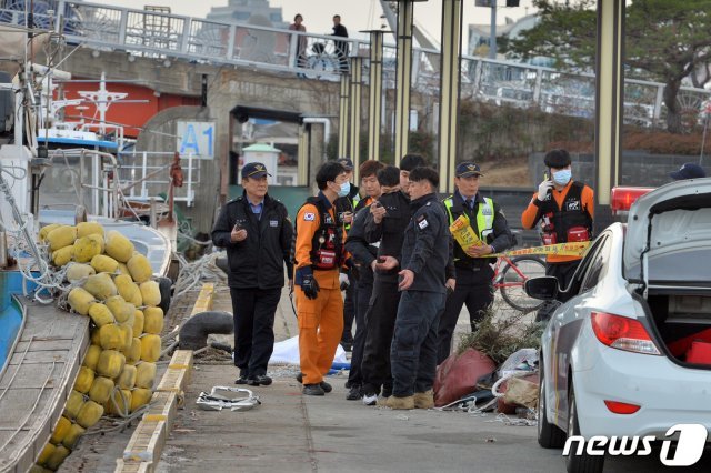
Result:
[[[91,345],[36,469],[57,470],[102,415],[128,416],[148,404],[160,356],[163,311],[151,265],[118,231],[83,222],[48,225],[40,240],[73,289],[68,304],[91,319]]]

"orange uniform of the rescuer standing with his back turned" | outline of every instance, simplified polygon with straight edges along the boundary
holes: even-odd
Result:
[[[326,200],[322,194],[319,197]],[[333,205],[329,207],[329,213],[336,222]],[[306,203],[297,213],[296,223],[294,273],[300,268],[311,265],[311,242],[321,227],[321,213],[314,204]],[[342,243],[344,243],[346,230],[342,231]],[[343,254],[346,258],[346,253]],[[333,364],[333,356],[343,333],[343,298],[339,273],[340,268],[313,269],[313,278],[320,288],[316,299],[308,299],[301,286],[294,285],[303,384],[318,384],[323,380],[323,375]]]

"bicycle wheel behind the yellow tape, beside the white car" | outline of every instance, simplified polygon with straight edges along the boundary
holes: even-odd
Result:
[[[515,266],[515,269],[514,269]],[[518,269],[518,271],[517,271]],[[519,271],[521,272],[519,274]],[[527,279],[545,275],[545,264],[535,256],[519,256],[511,260],[501,271],[499,289],[507,304],[522,312],[539,310],[545,302],[530,298],[523,291]]]

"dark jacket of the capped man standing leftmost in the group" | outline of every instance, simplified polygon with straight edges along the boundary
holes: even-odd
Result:
[[[264,195],[260,215],[252,212],[247,194],[228,202],[212,229],[212,242],[227,249],[228,283],[234,289],[274,289],[284,285],[284,264],[291,278],[290,261],[293,228],[287,208]],[[239,223],[247,239],[233,242],[232,228]]]

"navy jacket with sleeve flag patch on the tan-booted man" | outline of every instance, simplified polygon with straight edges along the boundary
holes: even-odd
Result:
[[[431,193],[410,202],[410,208],[400,263],[414,273],[409,291],[444,292],[452,238],[444,205]]]

